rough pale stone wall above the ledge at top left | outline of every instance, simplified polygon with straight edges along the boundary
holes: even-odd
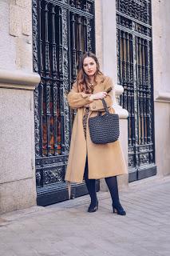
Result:
[[[0,68],[32,71],[32,1],[0,1]]]

